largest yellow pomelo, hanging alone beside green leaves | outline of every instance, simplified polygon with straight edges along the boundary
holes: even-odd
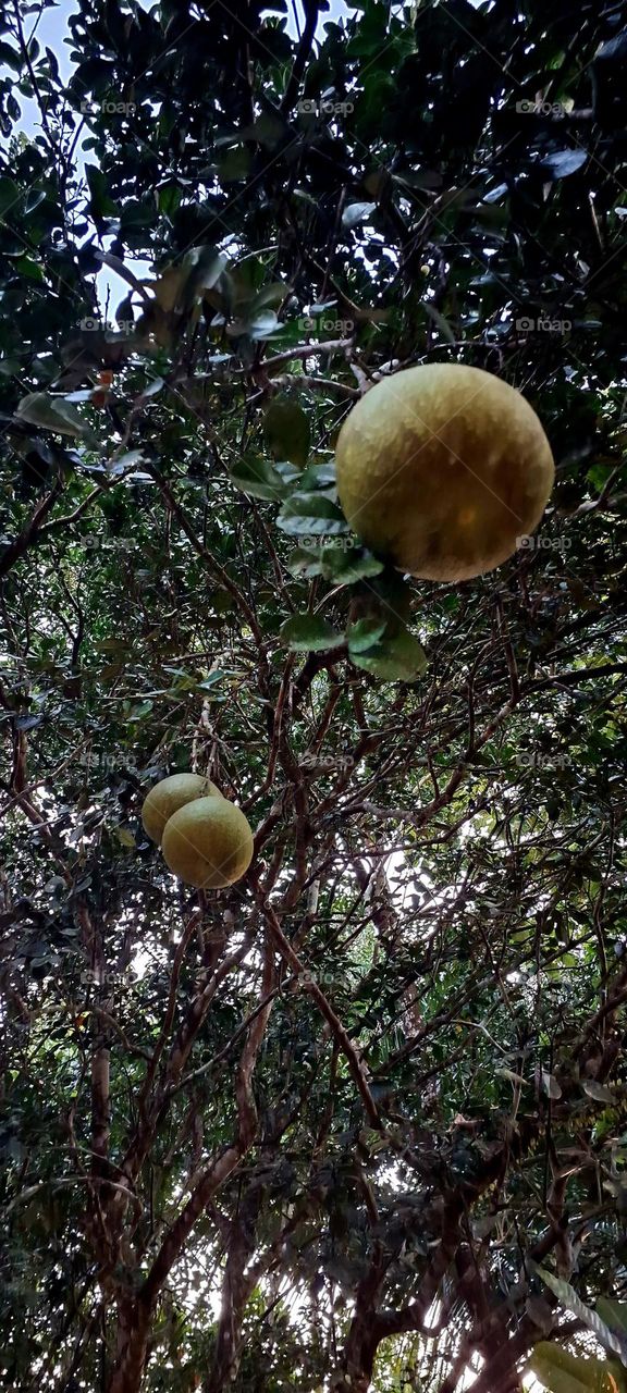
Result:
[[[357,535],[429,581],[492,571],[542,517],[553,456],[529,403],[481,368],[385,378],[340,430],[337,492]]]

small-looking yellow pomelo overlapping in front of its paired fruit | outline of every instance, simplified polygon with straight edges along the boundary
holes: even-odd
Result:
[[[194,798],[169,818],[162,851],[185,885],[220,890],[248,871],[252,832],[241,808],[227,798]]]

